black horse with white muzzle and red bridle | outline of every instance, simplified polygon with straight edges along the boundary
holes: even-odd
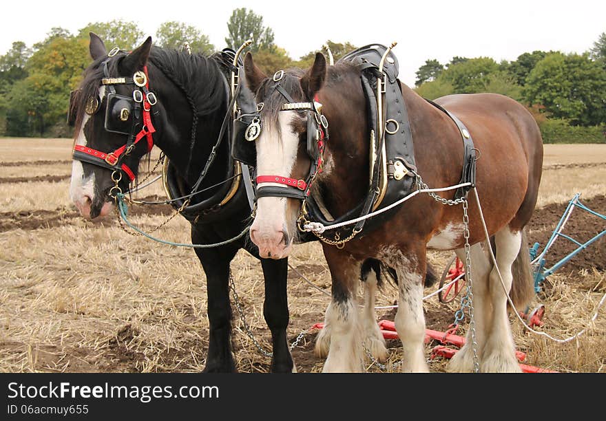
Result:
[[[152,47],[149,37],[131,53],[114,48],[108,54],[103,41],[90,34],[94,62],[85,70],[81,89],[70,105],[75,124],[70,195],[83,216],[109,213],[114,197],[128,190],[140,159],[155,144],[169,159],[167,184],[173,197],[183,197],[174,206],[182,208],[182,215],[191,222],[194,244],[233,239],[247,228],[251,207],[242,167],[231,157],[230,130],[225,129],[231,124],[233,106],[231,53],[205,57],[164,50]],[[184,197],[193,190],[198,193]],[[260,259],[247,235],[223,246],[196,248],[208,287],[207,372],[236,371],[231,352],[229,264],[240,248]],[[264,316],[273,339],[271,370],[290,372],[288,261],[260,260],[265,278]]]

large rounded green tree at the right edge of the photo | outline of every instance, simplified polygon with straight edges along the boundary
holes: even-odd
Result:
[[[606,122],[606,72],[588,54],[550,53],[526,78],[524,96],[572,125]]]

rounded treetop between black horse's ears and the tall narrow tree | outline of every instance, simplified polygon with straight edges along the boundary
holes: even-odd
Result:
[[[160,47],[174,50],[181,50],[185,43],[188,43],[191,52],[202,54],[211,54],[215,50],[207,35],[194,26],[177,21],[160,25],[156,31],[156,43]]]

